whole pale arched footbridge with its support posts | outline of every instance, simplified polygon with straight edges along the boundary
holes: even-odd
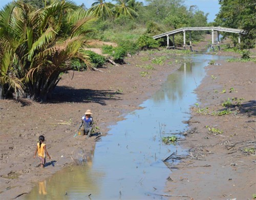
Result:
[[[183,47],[186,49],[186,31],[189,32],[189,47],[192,50],[192,41],[191,41],[191,31],[211,31],[211,47],[214,49],[215,40],[214,40],[214,32],[217,32],[217,45],[220,49],[220,32],[229,32],[229,33],[237,33],[238,35],[238,43],[241,43],[241,34],[246,34],[242,29],[231,29],[231,28],[223,28],[223,27],[188,27],[176,29],[167,33],[163,33],[160,35],[153,36],[154,39],[167,37],[167,48],[175,48],[174,36],[175,34],[183,32]],[[173,36],[173,46],[169,46],[169,37]]]

